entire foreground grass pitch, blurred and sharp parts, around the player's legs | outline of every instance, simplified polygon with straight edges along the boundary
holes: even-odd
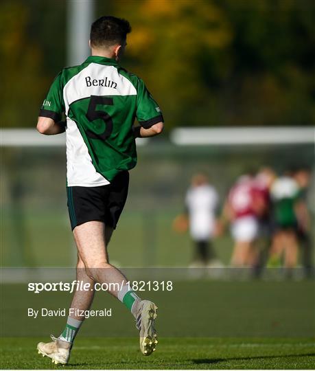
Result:
[[[1,369],[312,369],[315,367],[314,282],[174,282],[172,293],[145,293],[159,305],[156,352],[144,357],[133,319],[110,295],[93,309],[113,317],[86,319],[64,368],[36,351],[62,330],[65,317],[31,319],[28,306],[67,306],[67,293],[1,287]]]

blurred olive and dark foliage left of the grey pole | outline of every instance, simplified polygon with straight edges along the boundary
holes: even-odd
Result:
[[[62,3],[33,0],[1,3],[0,117],[3,127],[36,124],[49,84],[64,65],[65,30],[61,27],[62,13],[58,12]],[[62,32],[61,38],[58,38],[59,32]]]

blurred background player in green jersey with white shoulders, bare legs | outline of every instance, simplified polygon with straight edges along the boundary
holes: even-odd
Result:
[[[272,219],[275,232],[270,248],[269,266],[283,266],[290,276],[296,266],[298,256],[296,205],[299,200],[299,185],[292,178],[291,172],[278,177],[271,187]]]

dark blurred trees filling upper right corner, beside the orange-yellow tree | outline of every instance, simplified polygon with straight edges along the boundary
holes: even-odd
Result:
[[[223,122],[314,124],[314,2],[226,0],[221,6],[234,33],[231,70],[220,89],[228,109]]]

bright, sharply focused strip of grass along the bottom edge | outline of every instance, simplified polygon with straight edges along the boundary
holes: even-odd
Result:
[[[137,339],[80,338],[69,365],[56,366],[36,352],[39,338],[1,339],[2,369],[312,369],[312,339],[162,338],[144,357]]]

